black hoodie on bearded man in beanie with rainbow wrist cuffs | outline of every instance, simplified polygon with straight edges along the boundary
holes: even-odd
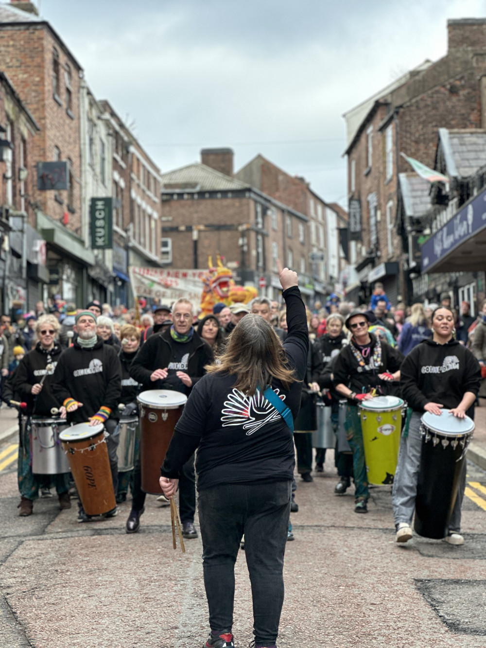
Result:
[[[87,421],[101,406],[117,414],[121,395],[121,366],[117,352],[97,336],[94,347],[82,348],[78,340],[65,349],[52,376],[52,391],[58,406],[67,398],[82,402],[83,406],[67,415],[74,423]]]

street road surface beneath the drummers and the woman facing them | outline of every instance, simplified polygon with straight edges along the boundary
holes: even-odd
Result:
[[[474,452],[485,452],[486,402],[476,411]],[[0,410],[0,434],[12,425]],[[0,445],[13,445],[6,437]],[[475,450],[475,448],[478,448]],[[468,464],[464,546],[413,537],[395,543],[390,487],[354,513],[353,489],[334,496],[336,471],[297,476],[299,512],[288,542],[279,648],[485,648],[486,473]],[[482,489],[482,490],[481,490]],[[207,603],[200,538],[172,548],[170,509],[148,496],[141,530],[127,535],[130,501],[117,517],[78,524],[77,506],[39,499],[19,518],[15,463],[0,471],[1,648],[200,648]],[[481,503],[482,502],[482,503]],[[197,519],[196,519],[197,527]],[[244,551],[235,566],[233,632],[251,635]]]

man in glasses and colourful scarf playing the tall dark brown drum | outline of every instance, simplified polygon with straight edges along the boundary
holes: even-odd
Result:
[[[191,301],[178,299],[172,307],[170,329],[153,334],[141,347],[130,365],[130,376],[145,389],[169,389],[185,395],[206,373],[205,365],[213,362],[213,351],[192,326],[194,309]],[[134,475],[132,511],[126,523],[128,533],[137,531],[143,513],[145,493]],[[179,513],[185,538],[197,538],[194,527],[196,511],[196,478],[194,455],[184,464],[179,481]]]

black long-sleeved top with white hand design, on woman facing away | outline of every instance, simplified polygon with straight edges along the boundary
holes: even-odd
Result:
[[[272,388],[295,418],[307,371],[308,329],[299,288],[284,290],[288,333],[283,349],[296,381],[284,389],[279,380]],[[179,470],[198,448],[198,489],[221,483],[292,480],[295,450],[292,432],[281,415],[257,391],[249,397],[233,388],[236,376],[203,376],[176,425],[161,474],[177,478]]]

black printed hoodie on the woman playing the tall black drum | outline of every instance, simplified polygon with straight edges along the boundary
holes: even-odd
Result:
[[[467,391],[478,394],[480,382],[478,360],[457,340],[422,340],[400,369],[402,395],[415,411],[423,411],[429,402],[456,408]]]

